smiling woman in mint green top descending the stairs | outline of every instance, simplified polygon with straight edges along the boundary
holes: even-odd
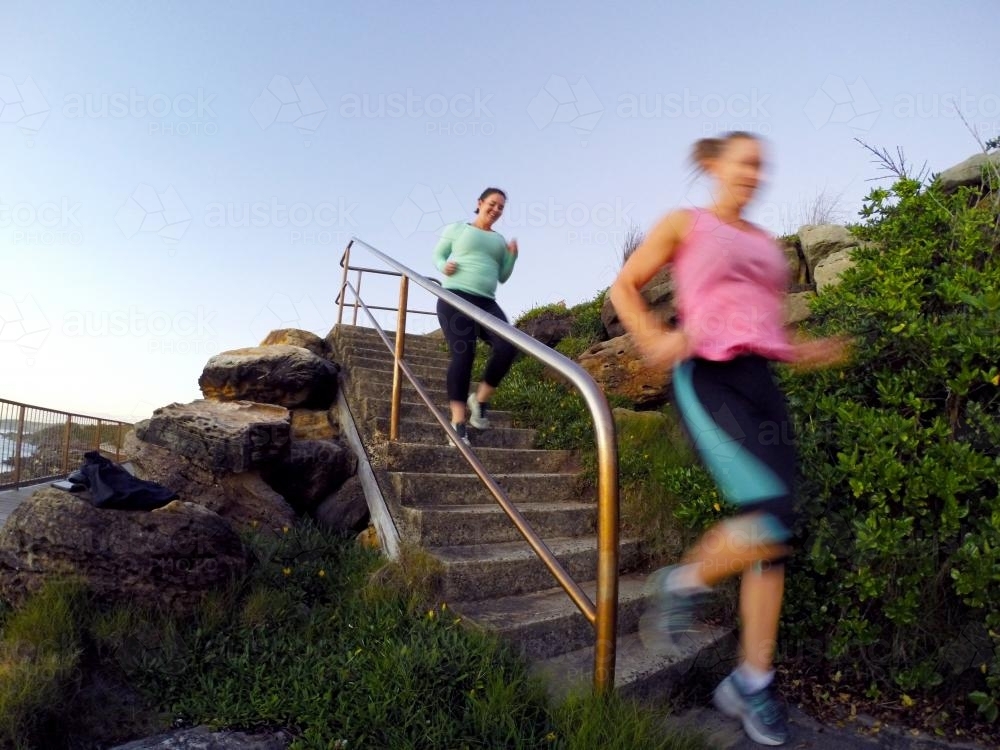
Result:
[[[506,202],[507,194],[502,190],[487,188],[479,196],[475,220],[446,226],[441,232],[441,241],[434,248],[434,265],[445,275],[442,286],[504,322],[507,316],[497,305],[494,295],[497,284],[507,281],[514,270],[517,240],[507,242],[503,235],[493,231],[493,224],[503,214]],[[489,428],[486,409],[490,397],[510,370],[517,349],[444,300],[438,300],[437,314],[451,352],[447,376],[451,425],[458,437],[469,445],[466,407],[469,424],[480,430]],[[492,352],[482,382],[476,392],[470,394],[469,380],[478,339],[489,344]]]

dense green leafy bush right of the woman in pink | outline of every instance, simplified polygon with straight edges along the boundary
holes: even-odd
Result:
[[[972,203],[915,180],[874,190],[855,267],[815,303],[815,332],[853,336],[855,356],[786,377],[807,554],[785,621],[832,667],[904,691],[979,673],[952,656],[971,623],[993,640],[975,695],[995,716],[1000,254],[996,213]]]

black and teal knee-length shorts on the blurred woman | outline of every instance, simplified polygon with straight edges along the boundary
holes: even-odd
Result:
[[[674,368],[673,383],[684,428],[722,497],[740,515],[759,514],[760,541],[790,541],[798,456],[768,360],[691,359]]]

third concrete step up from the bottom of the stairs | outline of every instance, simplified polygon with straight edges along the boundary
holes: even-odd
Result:
[[[594,578],[597,537],[556,537],[546,539],[545,544],[574,580]],[[526,594],[551,588],[555,583],[548,568],[523,540],[427,547],[426,551],[444,565],[441,594],[447,602]],[[638,541],[622,540],[620,566],[634,568],[638,561]]]

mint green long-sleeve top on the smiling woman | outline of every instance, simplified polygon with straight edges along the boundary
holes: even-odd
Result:
[[[494,299],[497,283],[510,278],[517,256],[507,249],[502,234],[456,222],[442,230],[441,241],[434,248],[434,265],[439,271],[443,273],[450,260],[458,268],[444,277],[441,286]]]

